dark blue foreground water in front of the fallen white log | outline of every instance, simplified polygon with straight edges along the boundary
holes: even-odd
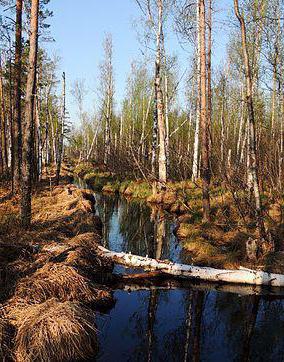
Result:
[[[98,320],[99,361],[283,361],[281,301],[196,290],[115,297]]]

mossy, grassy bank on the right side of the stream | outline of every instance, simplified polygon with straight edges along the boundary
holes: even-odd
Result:
[[[202,222],[202,189],[200,182],[189,180],[168,182],[164,190],[153,194],[153,185],[146,180],[125,180],[101,168],[86,163],[74,172],[89,187],[103,193],[119,193],[128,199],[139,199],[151,207],[174,214],[176,235],[193,264],[235,269],[244,266],[269,272],[284,273],[284,200],[271,192],[263,193],[265,225],[275,242],[257,260],[248,260],[246,242],[256,239],[256,225],[250,217],[250,200],[243,191],[231,192],[213,182],[211,222]],[[248,210],[248,211],[247,211]]]

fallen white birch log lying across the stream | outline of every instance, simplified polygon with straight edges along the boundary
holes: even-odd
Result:
[[[130,268],[160,271],[175,277],[193,278],[210,282],[284,287],[284,275],[261,270],[251,270],[242,267],[238,270],[226,270],[177,264],[138,255],[118,253],[110,251],[101,245],[98,246],[98,252],[102,257],[110,258],[117,264]]]

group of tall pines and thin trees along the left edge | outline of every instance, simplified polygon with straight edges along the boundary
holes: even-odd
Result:
[[[0,177],[21,195],[21,220],[31,221],[32,186],[55,164],[59,180],[63,137],[69,132],[65,74],[41,46],[52,41],[49,0],[1,1]],[[13,18],[15,20],[13,20]]]

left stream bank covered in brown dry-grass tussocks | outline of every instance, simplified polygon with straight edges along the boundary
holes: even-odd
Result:
[[[92,193],[53,177],[33,194],[32,226],[23,230],[19,198],[0,185],[0,360],[65,361],[97,349],[94,310],[114,303],[96,254],[101,221]]]

